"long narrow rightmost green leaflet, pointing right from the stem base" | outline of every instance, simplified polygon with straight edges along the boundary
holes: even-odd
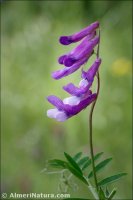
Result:
[[[98,185],[102,186],[102,185],[106,185],[106,184],[112,183],[114,181],[117,181],[118,179],[120,179],[122,176],[125,176],[125,175],[127,175],[127,173],[120,173],[120,174],[116,174],[116,175],[107,177],[107,178],[103,179],[102,181],[100,181],[98,183]]]

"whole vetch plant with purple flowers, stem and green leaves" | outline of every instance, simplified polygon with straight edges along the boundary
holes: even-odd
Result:
[[[89,114],[90,156],[82,156],[82,152],[74,156],[64,153],[66,160],[49,160],[47,162],[46,172],[61,173],[62,180],[65,183],[65,191],[68,186],[71,185],[70,179],[73,175],[88,187],[94,199],[111,200],[116,193],[116,189],[109,190],[108,185],[120,179],[122,176],[126,175],[126,173],[112,175],[102,180],[99,180],[97,175],[98,172],[112,160],[112,158],[107,158],[97,163],[103,155],[103,152],[97,153],[96,155],[94,155],[93,152],[92,117],[100,90],[99,68],[101,65],[101,58],[99,56],[99,26],[99,22],[94,22],[75,34],[60,37],[59,41],[63,45],[70,45],[79,41],[81,41],[81,43],[67,54],[59,57],[58,62],[63,65],[63,68],[52,73],[54,79],[61,79],[74,73],[87,63],[88,59],[93,54],[96,58],[87,71],[84,71],[82,67],[81,80],[78,86],[75,86],[73,83],[68,83],[66,86],[63,86],[63,89],[71,96],[63,100],[54,95],[47,97],[47,100],[54,106],[53,109],[47,111],[47,116],[60,122],[68,120],[84,110],[87,106],[91,106]],[[95,79],[97,79],[97,88],[96,92],[93,92],[91,88]],[[50,170],[54,168],[58,170],[51,172]],[[60,189],[62,190],[61,185]]]

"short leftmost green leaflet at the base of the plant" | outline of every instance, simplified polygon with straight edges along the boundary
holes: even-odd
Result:
[[[48,166],[55,167],[55,168],[63,168],[66,169],[66,161],[59,160],[59,159],[53,159],[48,160]]]

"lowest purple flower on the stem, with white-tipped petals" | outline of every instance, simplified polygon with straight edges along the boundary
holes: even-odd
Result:
[[[47,116],[63,122],[85,109],[96,99],[96,96],[96,94],[89,94],[86,98],[72,96],[63,101],[56,96],[49,96],[47,99],[55,108],[48,110]]]

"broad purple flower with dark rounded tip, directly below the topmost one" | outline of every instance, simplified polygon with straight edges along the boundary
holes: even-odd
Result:
[[[72,50],[63,60],[64,65],[66,67],[70,67],[72,64],[77,62],[80,59],[83,59],[86,56],[91,56],[94,47],[99,43],[99,36],[96,36],[92,40],[86,42],[84,47],[82,48],[75,48]]]

